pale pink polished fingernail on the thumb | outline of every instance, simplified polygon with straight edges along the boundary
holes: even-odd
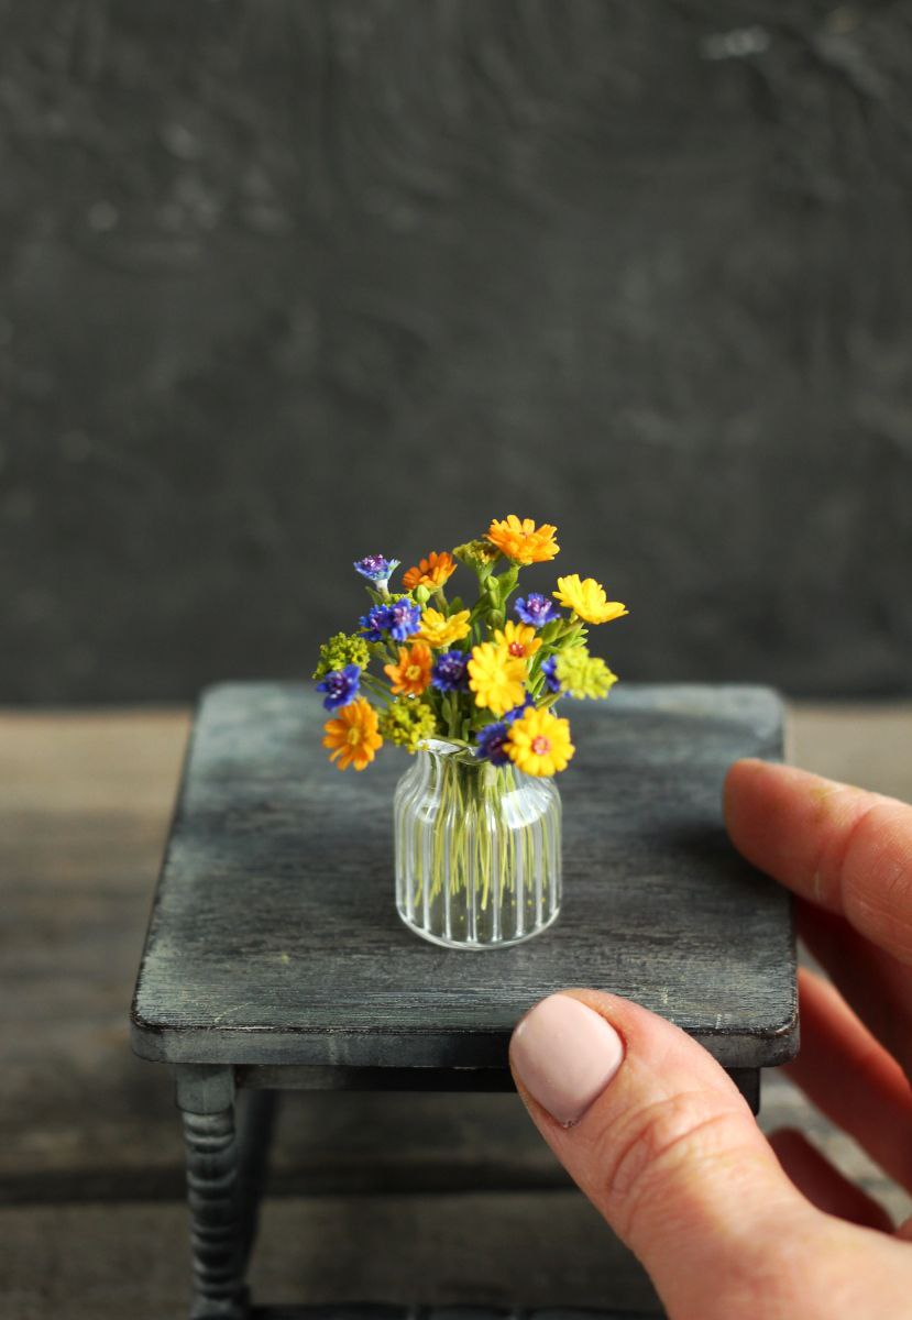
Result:
[[[525,1089],[569,1127],[615,1076],[624,1045],[601,1014],[569,994],[553,994],[516,1027],[509,1057]]]

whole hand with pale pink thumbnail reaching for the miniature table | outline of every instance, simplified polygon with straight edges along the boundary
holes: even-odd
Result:
[[[801,936],[845,994],[801,973],[802,1045],[788,1072],[912,1191],[912,807],[747,760],[729,772],[725,812],[744,857],[798,895]],[[677,1027],[568,990],[517,1026],[511,1067],[669,1320],[912,1315],[912,1221],[894,1233],[800,1134],[767,1142]]]

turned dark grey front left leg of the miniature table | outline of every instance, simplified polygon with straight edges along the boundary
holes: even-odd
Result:
[[[190,1320],[245,1320],[247,1251],[238,1179],[234,1073],[176,1068],[193,1250]]]

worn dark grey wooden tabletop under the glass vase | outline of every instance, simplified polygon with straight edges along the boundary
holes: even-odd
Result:
[[[496,1068],[519,1016],[564,986],[630,995],[726,1068],[797,1047],[787,895],[722,829],[726,767],[781,755],[775,693],[623,684],[568,702],[565,896],[511,949],[426,944],[393,904],[384,748],[341,775],[298,684],[231,684],[198,711],[133,1002],[147,1059]]]

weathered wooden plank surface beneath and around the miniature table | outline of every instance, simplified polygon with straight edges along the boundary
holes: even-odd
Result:
[[[127,1006],[185,710],[0,713],[0,1312],[179,1316],[181,1150]],[[798,706],[792,759],[912,800],[912,705]],[[908,1199],[784,1082],[801,1126],[895,1214]],[[289,1097],[252,1283],[272,1303],[653,1304],[512,1096]]]

